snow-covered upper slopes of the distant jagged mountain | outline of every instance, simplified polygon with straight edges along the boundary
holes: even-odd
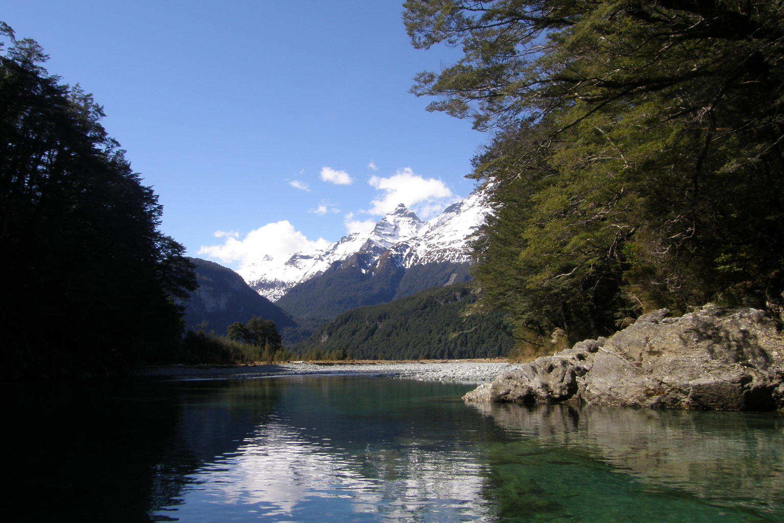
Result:
[[[237,272],[261,296],[277,301],[294,285],[339,266],[357,253],[365,255],[365,270],[382,257],[392,258],[406,268],[447,261],[466,263],[466,240],[484,222],[488,210],[480,191],[472,192],[427,221],[419,220],[400,204],[369,233],[348,234],[326,249],[297,252],[283,263],[264,256]]]

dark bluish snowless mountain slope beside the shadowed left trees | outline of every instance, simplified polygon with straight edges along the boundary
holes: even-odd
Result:
[[[185,309],[187,329],[204,329],[226,334],[234,321],[259,317],[274,321],[278,331],[296,326],[289,314],[254,292],[234,271],[208,260],[190,258],[194,263],[198,289],[191,292]]]

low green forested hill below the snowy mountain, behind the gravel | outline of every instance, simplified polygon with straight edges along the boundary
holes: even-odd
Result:
[[[504,357],[514,340],[501,314],[463,315],[477,296],[468,284],[436,287],[390,303],[340,314],[294,350],[320,358],[356,359]]]

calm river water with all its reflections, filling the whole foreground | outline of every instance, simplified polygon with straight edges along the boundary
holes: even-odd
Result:
[[[779,414],[358,376],[35,386],[3,391],[12,521],[784,521]]]

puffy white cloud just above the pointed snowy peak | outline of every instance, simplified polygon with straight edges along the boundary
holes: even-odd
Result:
[[[389,178],[372,176],[368,183],[378,189],[379,194],[365,212],[378,216],[394,211],[397,204],[403,203],[420,218],[428,219],[459,200],[441,180],[423,178],[409,167],[399,169]]]

